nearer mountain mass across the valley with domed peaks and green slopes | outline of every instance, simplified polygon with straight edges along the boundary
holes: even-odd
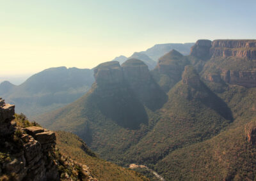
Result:
[[[83,97],[37,120],[166,180],[254,180],[255,57],[256,40],[198,40],[152,71],[138,59],[105,62]]]

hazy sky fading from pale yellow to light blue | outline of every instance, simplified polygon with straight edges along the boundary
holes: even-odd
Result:
[[[0,0],[0,77],[93,68],[156,43],[255,39],[255,7],[255,0]]]

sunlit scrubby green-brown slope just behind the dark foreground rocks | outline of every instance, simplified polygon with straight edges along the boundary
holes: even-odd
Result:
[[[148,180],[136,171],[122,168],[95,156],[76,134],[57,131],[57,147],[65,156],[86,164],[93,177],[98,180]]]

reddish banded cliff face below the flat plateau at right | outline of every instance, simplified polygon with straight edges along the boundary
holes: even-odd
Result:
[[[198,53],[201,51],[205,54]],[[211,58],[205,68],[210,65],[215,73],[205,71],[205,80],[256,87],[256,67],[252,63],[256,60],[256,40],[198,40],[190,55]]]

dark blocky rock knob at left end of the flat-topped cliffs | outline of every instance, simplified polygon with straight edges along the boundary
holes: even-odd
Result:
[[[195,45],[191,47],[190,55],[207,59],[210,57],[211,40],[198,40]]]

